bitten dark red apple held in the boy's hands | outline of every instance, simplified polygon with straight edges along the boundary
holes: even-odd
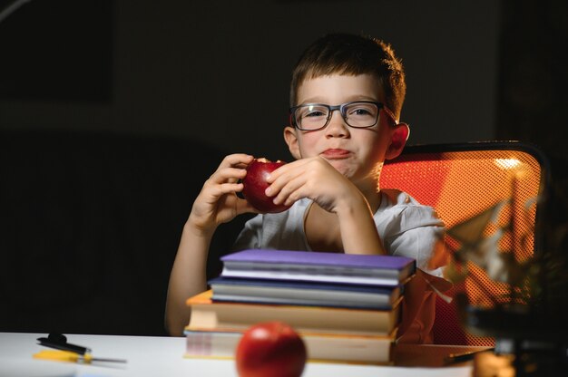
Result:
[[[280,160],[272,162],[266,159],[254,159],[247,167],[247,176],[242,179],[244,185],[242,195],[252,207],[257,208],[260,212],[277,213],[289,208],[289,206],[282,204],[274,204],[273,198],[267,197],[264,193],[264,190],[269,187],[269,183],[266,181],[268,175],[285,163]]]

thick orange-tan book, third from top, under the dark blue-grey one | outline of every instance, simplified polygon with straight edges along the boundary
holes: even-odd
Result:
[[[386,335],[399,322],[400,301],[390,310],[327,306],[213,302],[211,289],[189,298],[193,329],[246,329],[252,324],[281,321],[305,333]]]

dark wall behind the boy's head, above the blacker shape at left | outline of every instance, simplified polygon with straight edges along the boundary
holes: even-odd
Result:
[[[286,160],[293,63],[319,35],[345,31],[403,59],[410,143],[524,140],[565,155],[567,8],[34,0],[0,24],[0,128],[184,136]]]

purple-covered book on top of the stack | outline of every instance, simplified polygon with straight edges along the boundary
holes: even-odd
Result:
[[[359,285],[400,285],[416,272],[416,260],[406,256],[250,249],[221,261],[224,277]]]

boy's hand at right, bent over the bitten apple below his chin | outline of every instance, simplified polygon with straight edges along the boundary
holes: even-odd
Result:
[[[300,198],[310,198],[319,207],[338,213],[361,192],[345,176],[321,157],[296,160],[274,170],[266,190],[276,204],[289,206]]]

